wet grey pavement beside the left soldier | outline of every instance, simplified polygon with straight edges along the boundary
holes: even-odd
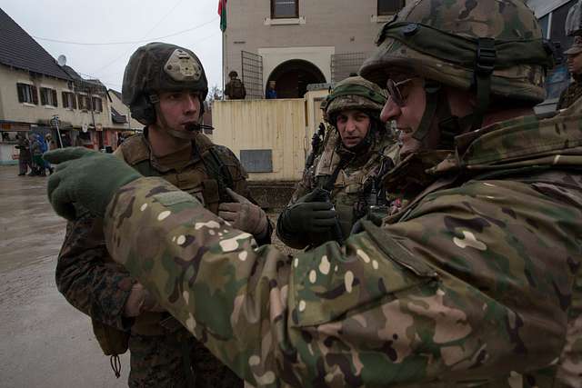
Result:
[[[0,386],[127,386],[101,353],[88,317],[55,285],[65,221],[46,200],[43,177],[0,166]]]

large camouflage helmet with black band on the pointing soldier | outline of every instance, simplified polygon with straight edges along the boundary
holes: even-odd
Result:
[[[426,135],[426,114],[435,114],[430,104],[440,98],[439,85],[476,94],[470,120],[476,129],[491,98],[522,106],[543,101],[553,65],[550,45],[523,0],[416,0],[384,25],[376,45],[360,68],[366,79],[384,86],[391,73],[404,73],[433,81],[425,85],[425,128],[416,138]]]

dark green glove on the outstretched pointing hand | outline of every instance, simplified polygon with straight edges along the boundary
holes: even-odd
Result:
[[[56,166],[48,178],[48,200],[56,214],[75,219],[80,204],[92,214],[103,217],[117,189],[142,175],[113,154],[102,154],[84,147],[49,151],[45,161]]]

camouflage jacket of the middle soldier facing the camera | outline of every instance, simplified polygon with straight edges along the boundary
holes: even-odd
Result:
[[[331,128],[326,134],[322,152],[311,166],[306,167],[289,205],[296,204],[297,200],[317,187],[328,188],[342,233],[347,236],[356,221],[366,215],[369,205],[386,201],[385,192],[376,188],[381,184],[381,175],[386,174],[397,162],[398,145],[388,131],[377,131],[366,152],[354,154],[343,146],[339,134]],[[334,176],[335,181],[330,182]],[[312,236],[288,231],[284,223],[277,223],[276,233],[281,241],[294,248],[305,248],[314,243]],[[318,241],[330,240],[333,238],[326,237]]]

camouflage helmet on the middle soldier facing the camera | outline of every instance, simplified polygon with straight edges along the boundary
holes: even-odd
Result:
[[[348,109],[358,109],[379,117],[386,104],[386,92],[378,85],[360,77],[351,76],[340,81],[321,104],[326,118],[336,124],[336,114]]]

